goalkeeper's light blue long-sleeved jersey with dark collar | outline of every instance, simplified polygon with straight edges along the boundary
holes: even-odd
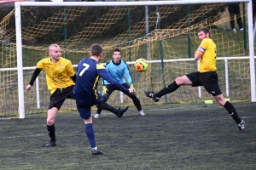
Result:
[[[113,77],[114,80],[119,82],[120,84],[126,83],[125,78],[128,83],[132,83],[131,74],[129,71],[128,65],[125,63],[123,59],[120,59],[119,64],[115,64],[113,62],[113,59],[109,60],[106,64],[106,69],[111,77]],[[125,78],[124,78],[125,75]],[[108,81],[103,81],[104,85],[110,84]]]

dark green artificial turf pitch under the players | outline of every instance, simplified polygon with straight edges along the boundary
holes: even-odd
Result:
[[[256,104],[234,106],[245,133],[218,104],[147,105],[146,116],[133,106],[121,118],[103,112],[93,119],[101,156],[91,155],[78,112],[58,114],[51,148],[43,147],[46,114],[3,120],[0,169],[256,169]]]

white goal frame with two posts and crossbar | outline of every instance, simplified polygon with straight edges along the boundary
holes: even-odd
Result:
[[[25,118],[24,85],[23,85],[23,64],[22,64],[22,35],[21,35],[21,14],[20,7],[35,6],[151,6],[151,5],[178,5],[178,4],[205,4],[205,3],[247,3],[248,20],[248,42],[250,59],[250,80],[251,99],[256,101],[255,94],[255,68],[254,68],[254,42],[253,42],[253,11],[252,0],[177,0],[177,1],[137,1],[137,2],[15,2],[15,26],[16,26],[16,52],[18,70],[18,91],[19,91],[19,115]]]

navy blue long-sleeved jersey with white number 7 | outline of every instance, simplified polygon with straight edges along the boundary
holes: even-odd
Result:
[[[77,80],[73,91],[78,102],[98,99],[97,85],[101,77],[120,91],[129,94],[129,90],[124,88],[119,82],[113,80],[106,68],[98,63],[96,59],[82,59],[78,65],[77,71]]]

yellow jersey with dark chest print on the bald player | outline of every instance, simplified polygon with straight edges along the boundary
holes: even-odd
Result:
[[[50,57],[41,59],[38,61],[37,67],[46,73],[50,94],[53,94],[56,88],[67,88],[75,84],[70,78],[74,76],[75,72],[71,61],[68,59],[61,57],[56,63],[51,62]]]

